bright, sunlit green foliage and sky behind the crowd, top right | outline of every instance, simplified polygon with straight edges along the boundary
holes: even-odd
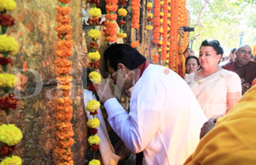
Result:
[[[204,4],[205,8],[202,9]],[[217,39],[228,55],[231,48],[237,48],[241,33],[243,44],[256,43],[256,3],[254,0],[187,0],[190,14],[190,32],[193,49],[199,52],[201,42],[205,39]],[[201,17],[199,19],[199,15]],[[198,24],[199,23],[199,24]]]

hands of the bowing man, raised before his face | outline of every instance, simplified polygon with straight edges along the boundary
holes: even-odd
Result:
[[[102,79],[101,83],[94,83],[93,85],[96,88],[96,92],[103,104],[105,101],[114,97],[113,92],[109,87],[109,83],[105,79]]]

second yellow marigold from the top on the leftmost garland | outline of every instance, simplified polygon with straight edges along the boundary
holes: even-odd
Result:
[[[1,0],[0,0],[1,1]],[[17,54],[18,43],[14,37],[7,37],[6,35],[0,35],[0,52],[6,52],[11,55]]]

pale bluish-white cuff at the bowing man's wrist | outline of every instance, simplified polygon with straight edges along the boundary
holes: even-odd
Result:
[[[127,113],[115,98],[111,98],[104,103],[104,107],[108,112],[108,118],[115,117],[119,114]]]

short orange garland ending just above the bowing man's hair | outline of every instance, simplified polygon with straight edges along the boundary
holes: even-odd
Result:
[[[118,9],[118,0],[106,0],[106,10],[107,15],[106,21],[103,23],[103,32],[106,35],[106,40],[109,44],[116,43],[117,40],[117,24],[115,20],[117,19],[116,10]]]

